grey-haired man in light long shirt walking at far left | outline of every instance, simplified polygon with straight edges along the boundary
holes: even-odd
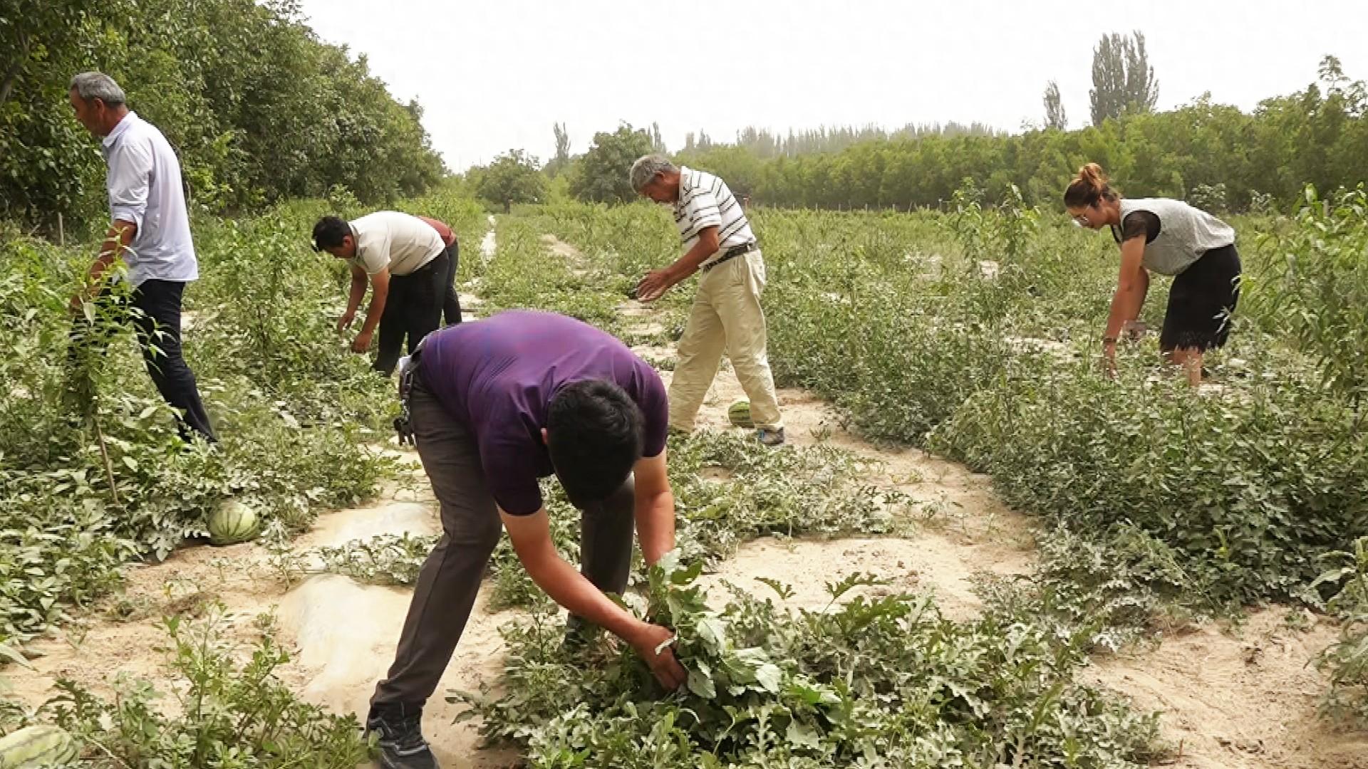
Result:
[[[181,300],[185,285],[200,276],[181,161],[161,131],[129,111],[111,77],[81,73],[71,79],[68,97],[77,120],[103,137],[112,220],[83,290],[71,297],[73,312],[86,301],[109,301],[105,272],[122,257],[133,289],[129,304],[142,311],[135,322],[148,374],[181,412],[181,435],[194,431],[212,442],[194,372],[181,356]]]

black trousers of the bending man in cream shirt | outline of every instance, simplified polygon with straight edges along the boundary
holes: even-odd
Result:
[[[443,250],[421,268],[408,275],[390,276],[390,296],[380,315],[380,349],[375,369],[389,376],[399,363],[399,350],[408,339],[409,354],[423,337],[442,326],[442,309],[451,289],[450,249]],[[460,307],[457,307],[460,317]]]

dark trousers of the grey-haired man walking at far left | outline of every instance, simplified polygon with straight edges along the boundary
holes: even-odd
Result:
[[[127,304],[141,312],[129,313],[137,330],[142,360],[161,398],[179,412],[176,428],[182,438],[194,431],[211,443],[218,438],[209,424],[209,415],[200,400],[200,389],[194,372],[181,354],[181,300],[185,283],[179,281],[144,281],[129,297]],[[114,302],[109,294],[100,301]],[[73,331],[73,343],[107,345],[108,335],[88,337],[81,330],[82,322]]]

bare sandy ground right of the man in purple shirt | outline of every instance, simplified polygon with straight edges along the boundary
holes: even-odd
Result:
[[[583,263],[573,246],[551,235],[543,241],[554,253]],[[985,276],[992,276],[992,267],[981,264]],[[651,337],[663,327],[658,312],[642,302],[624,302],[618,311],[628,320],[628,338]],[[657,364],[674,356],[669,346],[633,350]],[[670,374],[661,372],[666,382]],[[724,360],[698,427],[731,428],[726,408],[743,398]],[[826,442],[880,460],[884,469],[869,480],[919,499],[926,524],[908,539],[761,539],[743,546],[713,582],[726,579],[773,597],[757,577],[777,579],[793,586],[792,605],[813,608],[826,602],[825,582],[874,572],[891,579],[893,588],[932,591],[947,616],[964,618],[979,606],[970,583],[974,572],[1030,571],[1030,521],[996,498],[986,476],[917,449],[886,450],[862,441],[841,427],[832,406],[803,390],[781,389],[778,400],[791,443]],[[1141,710],[1163,712],[1163,739],[1181,746],[1176,766],[1368,769],[1368,735],[1338,733],[1316,713],[1326,680],[1308,661],[1334,640],[1335,631],[1315,617],[1309,629],[1293,629],[1283,623],[1286,614],[1286,608],[1256,612],[1238,634],[1201,625],[1153,647],[1101,657],[1085,677],[1131,698]]]

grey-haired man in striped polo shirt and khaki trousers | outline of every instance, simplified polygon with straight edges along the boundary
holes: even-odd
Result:
[[[676,167],[661,155],[633,163],[631,181],[637,193],[674,207],[674,223],[687,249],[674,264],[647,274],[636,286],[636,298],[655,301],[674,283],[703,271],[670,380],[670,427],[685,432],[694,428],[726,352],[751,401],[757,438],[766,446],[782,443],[784,421],[765,352],[765,260],[741,204],[722,179]]]

